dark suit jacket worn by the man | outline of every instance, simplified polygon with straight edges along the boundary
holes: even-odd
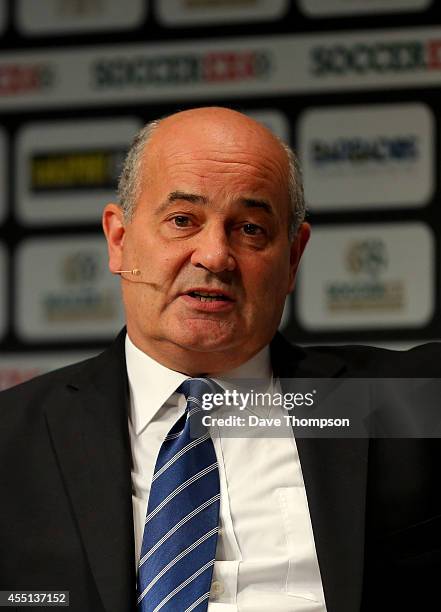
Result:
[[[71,612],[135,610],[124,336],[0,394],[2,590],[69,590]],[[436,344],[301,349],[277,335],[271,355],[275,373],[291,378],[436,377],[441,368]],[[439,441],[297,446],[328,612],[439,609]]]

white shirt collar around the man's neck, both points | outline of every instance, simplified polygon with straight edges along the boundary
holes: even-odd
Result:
[[[131,395],[130,419],[137,435],[150,423],[158,410],[187,378],[186,374],[163,366],[141,351],[126,335],[127,375]],[[264,347],[238,368],[212,377],[223,389],[233,389],[241,380],[271,383],[269,346]],[[236,382],[235,382],[236,381]]]

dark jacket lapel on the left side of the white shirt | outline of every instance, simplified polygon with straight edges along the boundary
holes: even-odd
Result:
[[[60,469],[106,612],[135,608],[130,443],[123,331],[80,365],[46,410]]]

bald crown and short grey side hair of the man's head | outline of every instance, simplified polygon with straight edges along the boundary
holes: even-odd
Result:
[[[126,222],[131,221],[138,199],[148,189],[149,177],[164,155],[197,161],[201,147],[216,159],[235,153],[238,169],[241,156],[265,151],[269,165],[275,160],[273,180],[286,185],[288,232],[293,237],[301,225],[304,198],[301,174],[294,152],[261,123],[243,113],[222,107],[181,111],[146,124],[135,136],[118,185],[120,205]]]

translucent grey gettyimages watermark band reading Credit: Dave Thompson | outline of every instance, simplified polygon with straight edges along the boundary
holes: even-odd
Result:
[[[441,379],[230,380],[200,402],[192,436],[441,438]]]

